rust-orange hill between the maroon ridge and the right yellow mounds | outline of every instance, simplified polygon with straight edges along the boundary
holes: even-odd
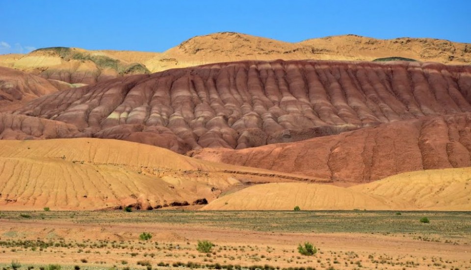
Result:
[[[471,115],[422,117],[340,135],[193,157],[301,173],[336,182],[376,181],[401,172],[471,166]]]

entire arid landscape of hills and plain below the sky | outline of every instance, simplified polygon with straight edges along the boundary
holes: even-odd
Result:
[[[0,267],[471,269],[470,63],[233,32],[0,55]]]

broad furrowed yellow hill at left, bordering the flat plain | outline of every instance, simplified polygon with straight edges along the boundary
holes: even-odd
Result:
[[[2,210],[165,208],[281,181],[315,179],[204,162],[118,140],[0,141]]]

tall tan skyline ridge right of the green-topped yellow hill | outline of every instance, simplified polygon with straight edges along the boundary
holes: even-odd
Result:
[[[289,43],[247,34],[222,32],[196,36],[169,49],[157,59],[174,59],[176,67],[241,60],[351,60],[372,61],[400,56],[447,64],[471,63],[471,45],[431,38],[381,40],[357,35],[329,36]],[[156,59],[156,60],[157,60]],[[159,71],[157,62],[147,66]],[[152,67],[154,64],[155,67]]]

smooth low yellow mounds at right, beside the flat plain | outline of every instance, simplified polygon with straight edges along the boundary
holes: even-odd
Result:
[[[203,210],[471,210],[471,168],[402,173],[350,188],[307,183],[239,190]]]

